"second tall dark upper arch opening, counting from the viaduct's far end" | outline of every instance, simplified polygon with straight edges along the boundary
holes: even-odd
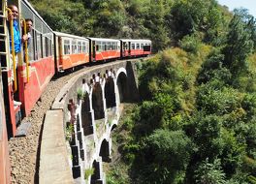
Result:
[[[116,102],[115,102],[115,94],[114,94],[114,81],[112,77],[108,77],[106,79],[105,83],[105,99],[106,99],[106,107],[115,107]]]

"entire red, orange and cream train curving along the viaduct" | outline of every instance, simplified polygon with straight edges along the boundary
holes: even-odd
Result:
[[[16,136],[21,118],[30,113],[51,77],[88,62],[146,56],[151,53],[151,41],[83,38],[54,32],[27,0],[3,0],[0,5],[0,183],[10,183],[8,138]],[[30,44],[22,46],[17,54],[16,69],[11,67],[8,5],[18,8],[19,25],[25,24],[25,18],[33,20]],[[15,100],[21,105],[15,106]]]

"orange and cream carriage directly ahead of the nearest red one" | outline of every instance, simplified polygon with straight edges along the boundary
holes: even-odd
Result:
[[[89,41],[83,37],[54,32],[57,72],[89,62]]]

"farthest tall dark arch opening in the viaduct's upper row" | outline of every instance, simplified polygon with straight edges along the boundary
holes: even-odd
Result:
[[[118,92],[119,92],[119,102],[125,103],[129,100],[129,94],[128,94],[128,82],[127,82],[127,76],[125,73],[121,72],[116,80]]]

